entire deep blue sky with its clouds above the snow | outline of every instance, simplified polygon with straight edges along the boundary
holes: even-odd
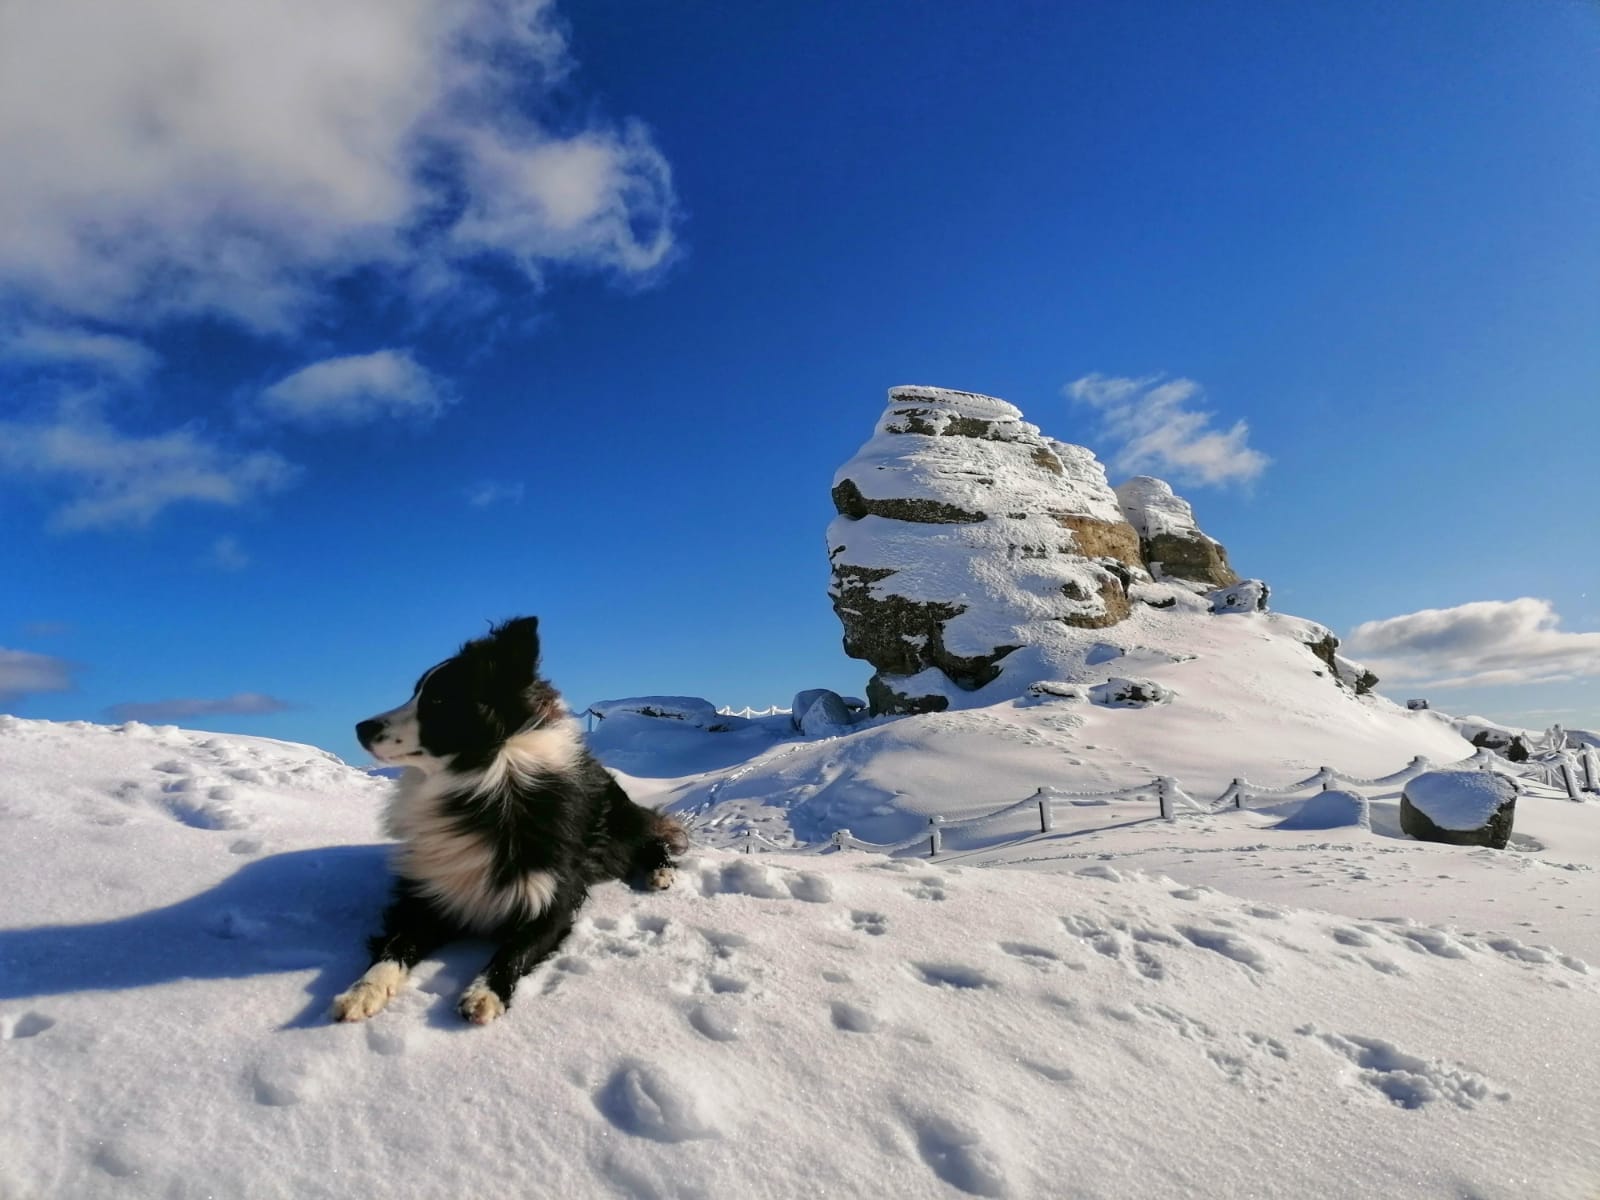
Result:
[[[0,6],[0,710],[859,694],[885,390],[1168,478],[1381,691],[1600,728],[1600,5]]]

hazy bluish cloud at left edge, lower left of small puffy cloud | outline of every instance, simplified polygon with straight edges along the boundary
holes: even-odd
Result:
[[[192,427],[122,432],[82,400],[62,402],[45,421],[0,421],[0,472],[61,488],[58,530],[142,526],[182,502],[238,506],[298,475],[274,451],[230,451]]]

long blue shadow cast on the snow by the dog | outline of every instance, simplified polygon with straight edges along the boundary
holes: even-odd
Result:
[[[366,938],[389,896],[387,859],[384,845],[267,854],[165,909],[0,930],[0,1002],[317,970],[304,1008],[283,1027],[320,1024],[366,968]]]

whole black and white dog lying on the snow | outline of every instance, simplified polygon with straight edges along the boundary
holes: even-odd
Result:
[[[538,627],[531,616],[494,626],[426,672],[410,701],[355,726],[374,758],[413,770],[386,814],[400,842],[394,902],[334,1019],[373,1016],[418,960],[477,936],[498,947],[459,1008],[488,1024],[571,931],[590,885],[672,885],[683,827],[629,800],[584,747],[539,677]]]

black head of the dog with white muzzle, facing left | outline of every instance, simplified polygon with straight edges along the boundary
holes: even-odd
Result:
[[[520,616],[422,672],[411,699],[360,722],[355,738],[382,763],[432,774],[486,762],[554,706],[539,680],[539,619]]]

